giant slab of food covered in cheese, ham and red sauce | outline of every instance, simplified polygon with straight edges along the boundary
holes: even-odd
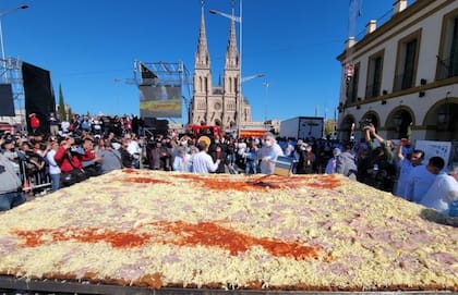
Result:
[[[119,284],[458,288],[457,229],[339,175],[123,170],[0,214],[0,272]]]

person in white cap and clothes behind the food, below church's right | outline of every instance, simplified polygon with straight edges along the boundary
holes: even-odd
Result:
[[[257,158],[261,159],[260,169],[262,174],[274,174],[275,161],[278,156],[284,156],[284,150],[277,144],[274,134],[267,132],[263,136],[263,147],[258,150]]]

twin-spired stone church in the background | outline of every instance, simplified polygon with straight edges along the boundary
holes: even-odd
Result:
[[[240,93],[240,56],[237,48],[233,20],[230,24],[222,85],[213,85],[210,65],[204,8],[202,7],[189,123],[218,125],[226,131],[238,128],[238,123],[240,125],[249,124],[251,122],[251,107]],[[240,118],[238,118],[239,115]]]

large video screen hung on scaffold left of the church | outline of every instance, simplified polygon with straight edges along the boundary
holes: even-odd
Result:
[[[181,118],[181,86],[141,85],[138,90],[142,118]]]

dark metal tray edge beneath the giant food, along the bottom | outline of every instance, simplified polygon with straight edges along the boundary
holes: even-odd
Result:
[[[5,293],[8,292],[8,293]],[[10,293],[12,292],[12,293]],[[160,288],[94,284],[62,280],[31,280],[0,275],[0,294],[104,294],[104,295],[302,295],[302,294],[458,294],[449,291],[373,291],[373,292],[314,292],[314,291],[253,291],[209,288]]]

